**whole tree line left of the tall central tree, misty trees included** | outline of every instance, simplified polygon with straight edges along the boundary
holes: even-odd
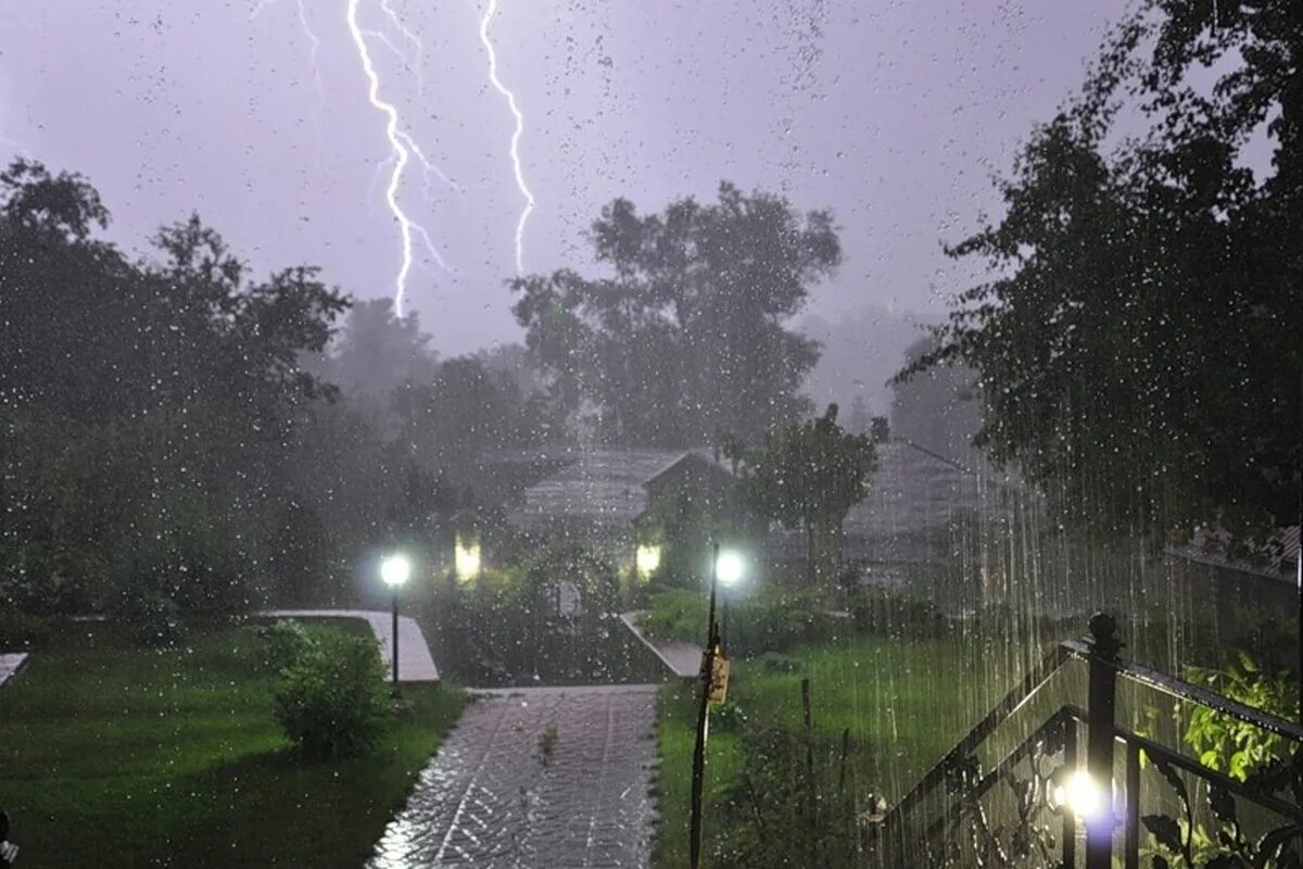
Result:
[[[257,279],[197,216],[133,261],[108,220],[78,175],[0,173],[0,606],[348,597],[367,547],[468,503],[446,479],[465,444],[545,427],[509,373],[437,361],[387,302],[306,266]]]

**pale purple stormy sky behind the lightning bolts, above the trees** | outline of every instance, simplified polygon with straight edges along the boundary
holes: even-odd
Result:
[[[524,201],[480,43],[486,4],[390,0],[417,53],[380,0],[358,0],[361,27],[392,46],[367,36],[382,98],[457,182],[423,184],[413,167],[400,190],[455,270],[418,248],[409,281],[443,353],[519,335],[503,280]],[[0,0],[0,158],[87,175],[128,248],[198,210],[259,272],[317,263],[358,296],[391,294],[399,236],[377,172],[390,149],[347,5],[304,0],[318,90],[296,0],[257,14],[254,0]],[[652,211],[730,178],[833,208],[846,264],[812,311],[939,311],[962,287],[939,241],[998,207],[990,178],[1124,8],[500,0],[490,33],[537,198],[525,268],[586,268],[584,232],[616,195]]]

